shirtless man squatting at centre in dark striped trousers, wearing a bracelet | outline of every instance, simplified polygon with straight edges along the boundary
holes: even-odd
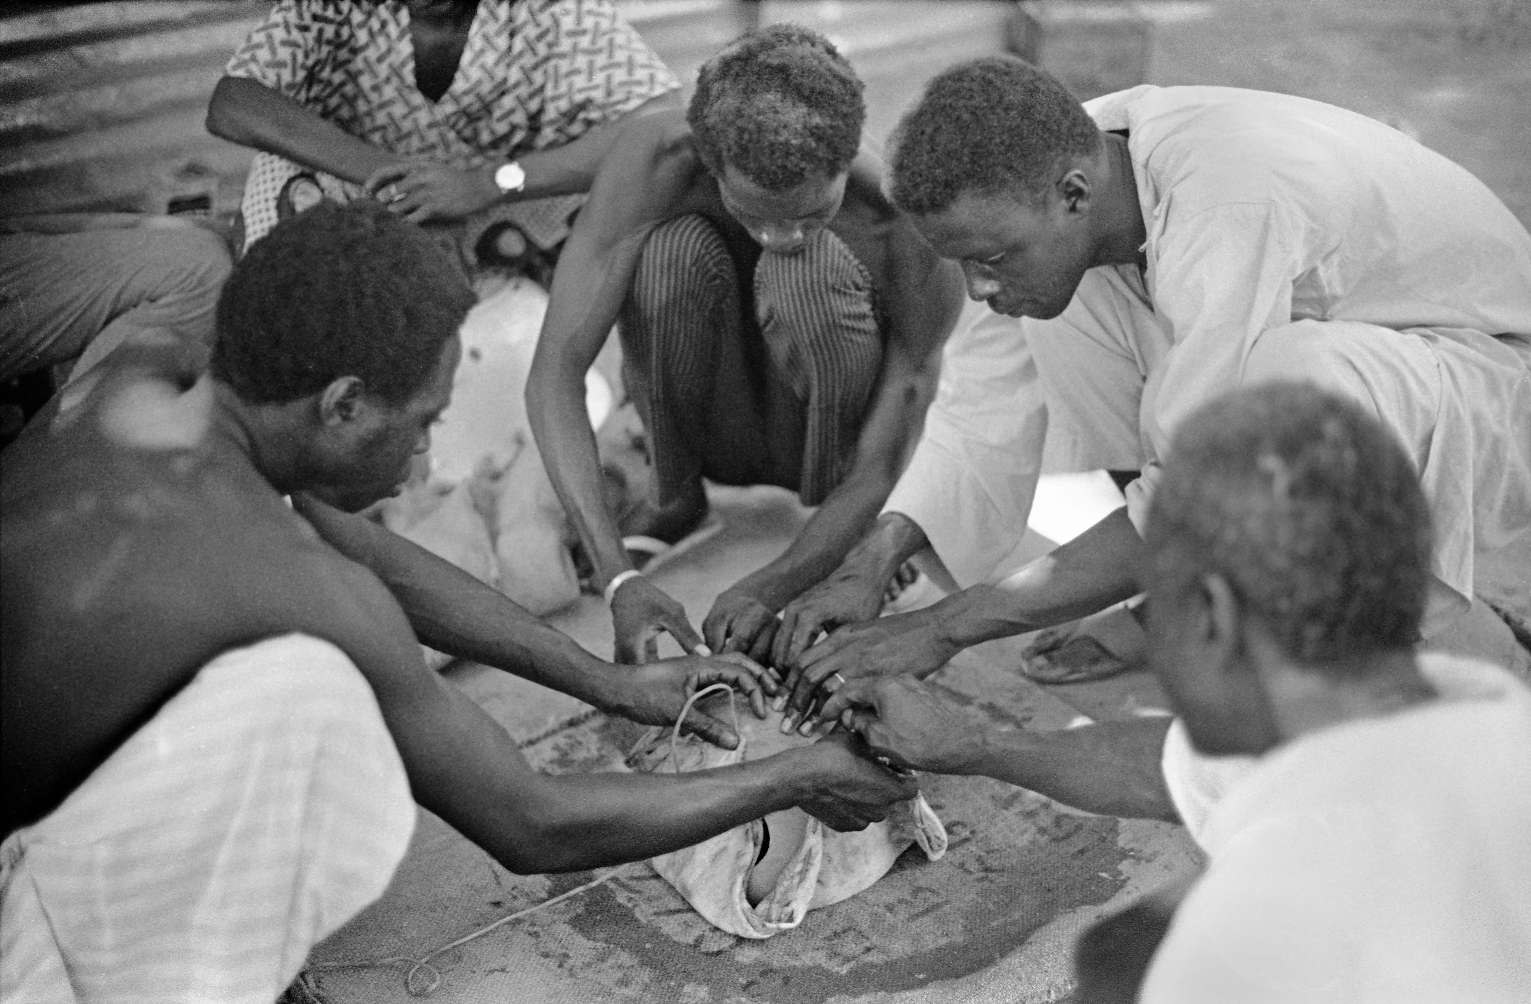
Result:
[[[703,623],[712,650],[766,660],[776,612],[870,525],[917,435],[961,280],[857,155],[860,92],[814,32],[739,38],[701,67],[684,118],[623,127],[559,260],[527,413],[611,605],[619,661],[654,658],[660,631],[703,644],[634,569],[625,534],[690,533],[703,478],[822,504]],[[655,497],[625,519],[602,500],[583,418],[585,372],[619,318],[655,468]]]

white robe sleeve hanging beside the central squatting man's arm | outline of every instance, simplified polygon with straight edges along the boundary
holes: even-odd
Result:
[[[942,352],[925,432],[883,513],[919,523],[958,586],[984,582],[1026,534],[1047,406],[1020,320],[977,308]]]

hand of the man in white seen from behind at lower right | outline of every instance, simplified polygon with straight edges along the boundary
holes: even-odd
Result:
[[[853,680],[824,702],[874,756],[937,774],[963,774],[983,755],[983,725],[914,676]]]

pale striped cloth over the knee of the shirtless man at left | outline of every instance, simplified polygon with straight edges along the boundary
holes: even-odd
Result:
[[[228,652],[0,846],[0,999],[271,1004],[381,895],[413,823],[340,649]]]

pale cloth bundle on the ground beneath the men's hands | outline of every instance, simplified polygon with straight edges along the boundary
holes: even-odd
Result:
[[[727,715],[723,706],[732,701],[732,692],[717,693],[698,706],[720,716]],[[628,764],[635,770],[680,773],[741,764],[813,742],[796,733],[782,735],[781,718],[781,712],[769,713],[764,721],[749,713],[736,716],[739,745],[733,750],[655,729]],[[649,865],[715,926],[744,938],[769,938],[801,924],[810,909],[871,888],[911,843],[919,843],[932,862],[946,852],[946,828],[923,794],[900,802],[888,819],[857,833],[836,833],[792,808],[661,854]]]

